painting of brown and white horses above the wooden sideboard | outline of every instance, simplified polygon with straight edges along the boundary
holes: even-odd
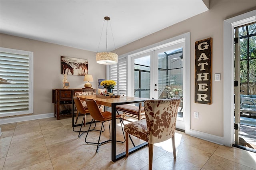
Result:
[[[61,56],[61,74],[88,74],[88,60]]]

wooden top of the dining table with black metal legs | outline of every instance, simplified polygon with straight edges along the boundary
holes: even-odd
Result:
[[[80,100],[84,99],[94,99],[98,105],[104,105],[107,107],[111,107],[112,103],[115,105],[122,105],[122,104],[129,104],[129,103],[139,103],[144,102],[145,100],[150,100],[148,98],[140,98],[140,97],[127,97],[127,96],[120,96],[117,98],[100,98],[96,95],[86,95],[86,96],[75,96],[79,97]]]

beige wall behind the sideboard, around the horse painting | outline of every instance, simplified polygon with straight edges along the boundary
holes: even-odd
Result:
[[[88,73],[93,75],[92,87],[105,78],[105,65],[96,63],[95,52],[0,34],[0,46],[34,52],[34,114],[53,113],[52,89],[62,89],[60,57],[88,59]],[[96,69],[97,68],[97,69]],[[68,75],[69,88],[84,87],[84,77]]]

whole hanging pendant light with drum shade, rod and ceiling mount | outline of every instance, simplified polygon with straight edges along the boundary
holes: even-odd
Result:
[[[99,63],[99,64],[105,64],[105,65],[116,64],[117,59],[118,59],[118,55],[116,53],[108,52],[108,20],[110,20],[110,18],[108,16],[105,16],[104,20],[107,21],[107,31],[106,31],[106,48],[107,48],[107,51],[97,53],[96,54],[96,62]],[[114,38],[113,38],[113,40],[114,40]]]

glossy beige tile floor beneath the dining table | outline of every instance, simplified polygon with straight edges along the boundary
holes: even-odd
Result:
[[[88,120],[88,119],[87,119]],[[90,120],[89,120],[90,121]],[[147,170],[148,147],[117,162],[111,161],[111,143],[100,146],[85,144],[83,134],[73,132],[71,118],[39,119],[1,125],[1,170]],[[97,123],[97,127],[100,123]],[[78,127],[77,127],[78,128]],[[88,128],[88,125],[83,128]],[[108,126],[102,138],[108,136]],[[117,127],[118,128],[118,127]],[[122,140],[121,128],[117,138]],[[99,132],[89,132],[88,139],[97,140]],[[154,145],[153,168],[156,170],[256,170],[256,153],[226,147],[176,131],[176,154],[173,158],[171,140]],[[134,138],[136,144],[141,141]],[[130,144],[132,146],[132,144]],[[117,152],[125,144],[117,143]]]

